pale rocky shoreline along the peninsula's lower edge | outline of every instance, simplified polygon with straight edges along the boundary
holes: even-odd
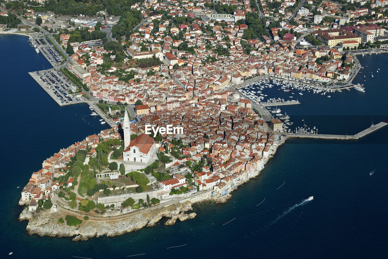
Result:
[[[279,146],[284,144],[287,138],[283,138],[272,150],[268,158],[265,159],[266,164],[270,158],[272,158]],[[257,177],[260,174],[260,171],[251,178]],[[250,178],[246,179],[244,182],[241,182],[240,186],[246,182],[249,182]],[[234,188],[233,190],[236,190]],[[211,196],[211,198],[206,198],[204,200],[198,201],[215,201],[218,203],[226,203],[232,196]],[[78,240],[88,240],[92,237],[99,236],[118,236],[125,233],[130,233],[137,231],[144,227],[153,227],[163,218],[169,218],[164,224],[166,226],[171,226],[179,219],[179,221],[185,221],[188,219],[194,219],[197,215],[195,212],[186,214],[185,212],[191,211],[192,203],[189,200],[186,200],[184,203],[171,204],[166,207],[160,208],[157,211],[151,210],[150,212],[144,212],[139,215],[133,215],[131,217],[126,217],[123,219],[115,220],[93,220],[89,219],[83,221],[81,225],[76,228],[74,226],[68,226],[66,223],[58,222],[59,218],[64,218],[66,213],[64,212],[49,212],[45,211],[39,214],[32,214],[28,211],[28,208],[24,210],[19,215],[19,220],[28,220],[28,225],[26,230],[29,235],[38,234],[39,236],[52,236],[52,237],[73,237],[73,241]],[[19,205],[23,206],[24,203],[19,201]]]

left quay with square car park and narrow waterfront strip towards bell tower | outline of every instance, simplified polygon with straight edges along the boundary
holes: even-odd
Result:
[[[100,115],[109,126],[116,126],[116,123],[100,110],[93,101],[86,99],[79,93],[70,93],[69,90],[75,91],[76,87],[69,82],[61,72],[54,68],[29,72],[29,75],[48,93],[59,106],[66,106],[74,103],[87,103],[93,107],[94,111]],[[54,81],[54,82],[53,82]]]

